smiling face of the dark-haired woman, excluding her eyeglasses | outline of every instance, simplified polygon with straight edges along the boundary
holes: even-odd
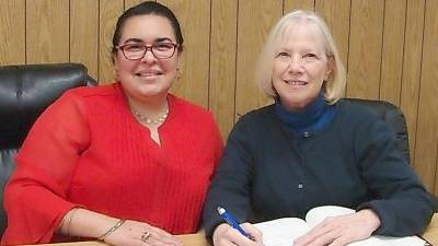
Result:
[[[170,21],[154,14],[137,15],[126,20],[118,46],[128,44],[176,44]],[[115,69],[128,97],[146,101],[165,97],[176,78],[178,51],[165,59],[158,59],[149,48],[142,59],[128,60],[118,49],[114,54]]]

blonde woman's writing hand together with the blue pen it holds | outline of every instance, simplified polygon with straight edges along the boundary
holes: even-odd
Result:
[[[215,246],[230,244],[239,246],[262,245],[262,233],[252,224],[243,223],[240,225],[226,209],[218,207],[217,210],[228,225],[221,224],[215,230],[212,238]],[[242,237],[242,235],[244,237]]]

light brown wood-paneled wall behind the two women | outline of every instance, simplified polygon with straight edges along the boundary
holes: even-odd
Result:
[[[113,80],[111,35],[140,0],[1,0],[0,63],[76,61]],[[381,98],[405,113],[413,165],[438,195],[438,0],[163,0],[186,38],[173,91],[210,108],[226,137],[241,114],[266,104],[254,62],[283,13],[316,10],[348,68],[347,96]]]

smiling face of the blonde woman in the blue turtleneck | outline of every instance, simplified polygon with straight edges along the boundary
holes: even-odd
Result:
[[[315,101],[332,71],[321,35],[312,27],[306,23],[290,26],[275,51],[273,86],[289,110]]]

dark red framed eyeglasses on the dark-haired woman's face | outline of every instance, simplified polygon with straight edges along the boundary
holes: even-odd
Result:
[[[173,57],[178,44],[173,43],[157,43],[153,45],[145,44],[127,44],[122,46],[116,46],[116,49],[122,50],[123,55],[128,60],[142,59],[148,51],[151,50],[152,55],[157,59],[168,59]]]

